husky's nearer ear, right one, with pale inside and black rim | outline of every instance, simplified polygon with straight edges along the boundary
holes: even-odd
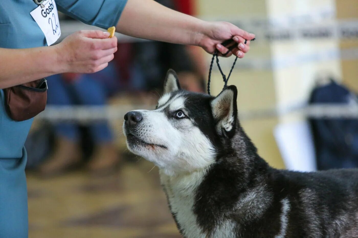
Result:
[[[236,128],[237,119],[237,88],[234,85],[224,88],[211,101],[211,108],[217,127],[231,137]]]

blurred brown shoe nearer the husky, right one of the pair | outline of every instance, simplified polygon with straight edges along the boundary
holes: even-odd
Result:
[[[107,175],[116,172],[120,156],[113,143],[96,145],[96,149],[88,163],[88,170],[94,175]]]

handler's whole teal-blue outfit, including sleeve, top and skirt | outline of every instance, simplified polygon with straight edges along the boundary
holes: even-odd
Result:
[[[87,24],[108,28],[117,24],[126,0],[96,0],[91,4],[87,0],[57,0],[55,3],[59,11]],[[47,45],[43,32],[30,15],[37,7],[33,0],[0,1],[0,48]],[[11,120],[4,104],[4,92],[0,89],[0,238],[21,238],[27,237],[26,153],[23,147],[33,119]],[[19,220],[15,222],[13,217]],[[8,222],[3,222],[7,218],[10,218]],[[11,230],[21,235],[10,234]],[[10,233],[4,235],[5,232]]]

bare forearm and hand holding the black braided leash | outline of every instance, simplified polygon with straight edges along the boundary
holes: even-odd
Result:
[[[154,0],[128,0],[117,31],[126,35],[176,44],[197,45],[213,54],[217,49],[220,55],[228,49],[221,43],[233,39],[238,47],[231,50],[242,58],[250,49],[250,40],[255,38],[228,22],[208,22],[178,11],[171,10]]]

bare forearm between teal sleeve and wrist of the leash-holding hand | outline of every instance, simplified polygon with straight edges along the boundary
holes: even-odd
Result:
[[[166,8],[154,0],[128,0],[117,31],[150,40],[198,45],[205,21]]]

